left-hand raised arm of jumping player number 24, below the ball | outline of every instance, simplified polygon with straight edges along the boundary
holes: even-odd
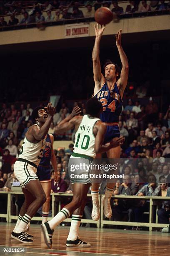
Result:
[[[100,66],[100,39],[102,37],[102,33],[105,29],[105,26],[101,26],[99,28],[99,24],[95,25],[95,44],[92,50],[92,64],[93,64],[93,75],[95,81],[95,90],[94,94],[100,90],[101,85],[104,83],[105,78],[101,73],[101,66]]]

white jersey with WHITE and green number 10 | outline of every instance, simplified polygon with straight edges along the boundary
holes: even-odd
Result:
[[[91,156],[95,158],[95,136],[93,134],[93,127],[100,118],[89,118],[84,115],[75,133],[74,153]]]

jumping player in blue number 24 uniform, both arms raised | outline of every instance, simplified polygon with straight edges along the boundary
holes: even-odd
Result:
[[[104,143],[108,143],[112,138],[120,137],[120,131],[118,127],[118,118],[122,111],[122,97],[124,90],[128,82],[128,59],[123,51],[121,39],[122,30],[117,31],[116,34],[116,46],[120,55],[122,63],[122,70],[119,76],[119,67],[114,62],[107,60],[104,65],[105,76],[101,73],[100,66],[100,40],[102,33],[105,30],[105,26],[99,28],[99,24],[95,26],[95,44],[92,51],[92,63],[93,74],[95,81],[94,97],[97,97],[102,102],[103,112],[100,114],[100,119],[107,126]],[[110,148],[107,151],[107,157],[110,159],[120,158],[120,146],[116,148]],[[104,206],[105,217],[110,218],[112,216],[112,209],[110,206],[110,199],[114,190],[114,183],[107,183],[105,196],[102,198]],[[98,220],[100,218],[99,211],[99,184],[92,185],[92,219]]]

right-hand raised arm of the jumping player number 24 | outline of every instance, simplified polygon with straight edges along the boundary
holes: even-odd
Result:
[[[116,46],[119,51],[120,60],[122,62],[122,70],[120,73],[120,79],[118,79],[117,84],[120,90],[120,96],[122,97],[123,92],[128,83],[129,64],[128,64],[128,58],[122,48],[121,39],[122,39],[122,30],[120,29],[119,31],[117,31],[117,34],[116,34]]]

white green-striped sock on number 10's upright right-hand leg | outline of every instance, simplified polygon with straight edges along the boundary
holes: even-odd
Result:
[[[80,227],[82,215],[72,215],[72,221],[70,226],[70,232],[68,234],[68,240],[76,240],[78,236],[78,230]]]

